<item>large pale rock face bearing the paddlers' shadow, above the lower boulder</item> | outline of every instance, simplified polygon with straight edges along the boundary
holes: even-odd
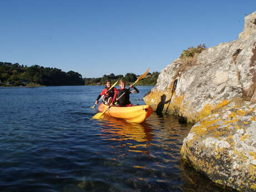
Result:
[[[220,43],[201,52],[196,63],[180,58],[161,70],[157,84],[144,101],[160,109],[198,122],[214,111],[243,98],[255,99],[256,12],[245,18],[244,32],[238,40]],[[173,91],[174,81],[178,80]],[[165,101],[163,101],[165,98]],[[171,101],[170,101],[171,99]],[[239,107],[237,105],[236,107]],[[159,112],[159,111],[158,111]]]

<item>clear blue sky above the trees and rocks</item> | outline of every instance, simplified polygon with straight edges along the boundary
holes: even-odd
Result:
[[[256,0],[0,0],[0,61],[101,77],[161,71],[182,50],[236,40]]]

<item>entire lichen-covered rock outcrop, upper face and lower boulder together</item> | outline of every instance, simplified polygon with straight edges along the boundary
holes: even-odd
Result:
[[[256,191],[255,70],[256,12],[245,17],[238,40],[204,50],[193,63],[176,59],[144,97],[156,111],[196,122],[183,158],[215,183],[240,191]]]

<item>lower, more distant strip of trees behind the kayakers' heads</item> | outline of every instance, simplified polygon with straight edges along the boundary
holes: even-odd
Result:
[[[157,77],[159,76],[159,72],[148,73],[146,77],[142,78],[137,85],[156,85]],[[112,83],[117,81],[118,78],[124,78],[127,82],[127,85],[134,83],[140,75],[135,75],[134,73],[126,73],[123,75],[114,75],[111,73],[110,75],[104,75],[99,78],[83,78],[85,80],[85,85],[105,85],[107,80],[110,80]]]

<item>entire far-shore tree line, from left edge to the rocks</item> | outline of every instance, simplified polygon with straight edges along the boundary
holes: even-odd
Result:
[[[58,68],[32,65],[31,67],[19,63],[0,62],[0,86],[27,86],[27,85],[105,85],[107,80],[112,82],[124,78],[127,84],[133,83],[140,75],[126,73],[123,75],[104,75],[98,78],[82,78],[78,72],[64,72]],[[148,73],[137,85],[155,85],[159,72]]]

